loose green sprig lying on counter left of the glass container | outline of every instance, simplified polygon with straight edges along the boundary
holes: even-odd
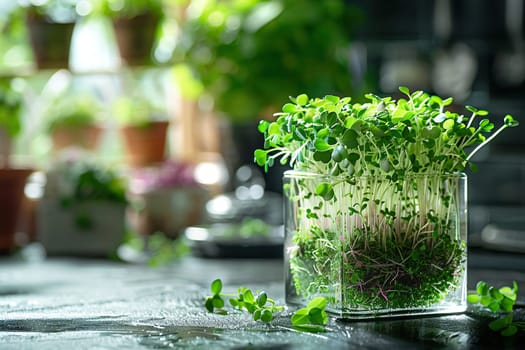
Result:
[[[253,316],[254,321],[270,322],[275,314],[284,310],[283,306],[275,305],[275,300],[270,299],[266,292],[256,291],[254,294],[251,289],[240,287],[237,294],[223,294],[222,281],[216,279],[210,286],[212,295],[206,297],[205,306],[209,312],[227,314],[224,309],[224,296],[230,297],[230,305],[239,310],[246,310]]]

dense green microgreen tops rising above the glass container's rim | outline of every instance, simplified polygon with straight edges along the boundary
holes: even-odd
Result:
[[[493,132],[485,110],[467,106],[471,115],[464,116],[446,109],[452,98],[410,93],[406,87],[399,90],[406,98],[397,101],[373,94],[365,95],[368,103],[331,95],[291,98],[276,121],[260,122],[265,149],[255,151],[255,161],[268,169],[280,159],[296,170],[326,175],[402,178],[454,173],[464,170],[472,156],[505,128],[518,125],[506,115]]]

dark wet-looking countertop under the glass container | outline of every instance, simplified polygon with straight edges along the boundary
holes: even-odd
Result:
[[[478,311],[341,322],[325,333],[294,330],[290,312],[271,324],[204,308],[209,283],[223,291],[263,289],[284,303],[283,265],[274,260],[187,257],[150,268],[103,260],[0,260],[0,349],[519,349],[525,336],[501,337]],[[485,279],[525,288],[525,255],[469,253],[469,288]],[[523,296],[523,292],[520,292]],[[521,300],[522,301],[522,300]],[[524,309],[517,314],[525,319]],[[522,347],[521,347],[522,348]]]

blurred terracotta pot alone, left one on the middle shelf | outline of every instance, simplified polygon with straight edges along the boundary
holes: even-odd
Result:
[[[53,142],[53,148],[57,151],[71,146],[95,150],[101,135],[102,128],[95,125],[59,127],[51,133],[51,140]]]

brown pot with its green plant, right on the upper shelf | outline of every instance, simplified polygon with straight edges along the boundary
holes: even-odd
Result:
[[[129,66],[153,62],[153,47],[164,17],[164,0],[94,0],[94,13],[112,20],[120,57]]]

